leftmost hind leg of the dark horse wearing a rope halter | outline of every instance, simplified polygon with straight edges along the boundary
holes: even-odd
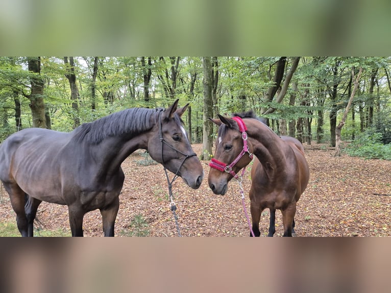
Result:
[[[16,224],[19,232],[23,237],[28,236],[27,217],[25,212],[25,191],[21,190],[16,183],[4,183],[4,188],[7,190],[11,206],[16,213]]]

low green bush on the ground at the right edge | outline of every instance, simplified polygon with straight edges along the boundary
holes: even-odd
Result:
[[[346,147],[346,153],[352,157],[391,160],[391,144],[382,144],[382,134],[375,131],[370,128],[361,133]]]

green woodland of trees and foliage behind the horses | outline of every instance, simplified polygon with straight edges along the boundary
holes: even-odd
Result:
[[[0,57],[0,138],[26,127],[69,132],[122,109],[180,99],[190,103],[184,120],[190,141],[203,142],[203,159],[216,133],[207,118],[250,109],[279,135],[332,147],[347,110],[343,140],[366,131],[388,144],[390,68],[389,57]]]

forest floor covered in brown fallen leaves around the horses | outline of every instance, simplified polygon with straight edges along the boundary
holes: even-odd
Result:
[[[347,155],[336,158],[325,144],[304,144],[304,148],[311,175],[297,205],[296,236],[391,236],[391,162]],[[193,150],[200,154],[202,145],[193,144]],[[141,165],[142,153],[136,151],[122,164],[126,178],[115,236],[134,229],[131,223],[137,215],[148,223],[142,229],[149,230],[150,236],[177,236],[163,167]],[[208,162],[202,161],[202,165],[205,179],[199,189],[187,187],[181,179],[173,184],[182,236],[249,236],[237,183],[232,180],[226,195],[216,196],[208,187]],[[250,184],[247,170],[243,188],[249,212]],[[2,222],[15,222],[4,188],[0,190],[0,216]],[[43,202],[37,219],[39,228],[70,231],[66,206]],[[267,235],[268,223],[268,210],[264,210],[261,236]],[[85,215],[83,229],[85,236],[103,235],[99,210]],[[282,234],[281,212],[277,211],[275,236]]]

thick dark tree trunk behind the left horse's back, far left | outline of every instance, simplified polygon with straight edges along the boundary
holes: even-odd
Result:
[[[29,57],[28,68],[33,74],[30,76],[31,92],[26,97],[30,101],[33,127],[46,128],[45,105],[43,103],[44,82],[41,77],[41,57]]]

